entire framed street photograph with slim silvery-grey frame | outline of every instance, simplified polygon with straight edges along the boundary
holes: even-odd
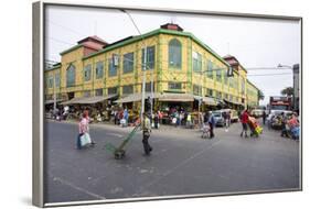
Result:
[[[33,204],[302,189],[302,19],[33,3]]]

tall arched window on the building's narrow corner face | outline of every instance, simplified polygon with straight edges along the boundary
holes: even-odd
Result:
[[[169,42],[169,67],[181,68],[182,64],[182,46],[181,42],[173,38]]]

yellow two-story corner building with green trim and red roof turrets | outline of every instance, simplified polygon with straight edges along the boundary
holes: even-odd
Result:
[[[44,72],[47,101],[55,96],[66,105],[117,97],[116,102],[139,109],[146,67],[147,97],[154,98],[156,109],[196,109],[197,99],[204,109],[258,106],[258,89],[238,61],[222,58],[177,24],[110,44],[89,36],[61,55],[61,63]],[[234,76],[227,77],[231,66]]]

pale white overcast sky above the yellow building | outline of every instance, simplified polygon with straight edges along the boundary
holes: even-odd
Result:
[[[279,96],[292,86],[290,69],[252,69],[292,66],[300,63],[300,23],[298,21],[249,18],[220,18],[175,13],[128,11],[141,33],[174,22],[193,33],[220,56],[231,54],[248,68],[248,79],[265,95]],[[46,59],[60,62],[60,52],[77,41],[97,35],[108,43],[129,35],[138,35],[129,16],[118,10],[50,6],[46,10]],[[266,74],[285,74],[261,76]],[[255,76],[258,75],[258,76]],[[260,75],[260,76],[259,76]]]

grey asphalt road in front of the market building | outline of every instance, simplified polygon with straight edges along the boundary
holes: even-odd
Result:
[[[300,188],[300,143],[267,128],[259,139],[242,139],[237,123],[202,140],[199,130],[161,127],[150,156],[139,132],[117,161],[104,145],[119,144],[130,129],[92,124],[97,144],[76,150],[77,124],[46,121],[45,202]]]

